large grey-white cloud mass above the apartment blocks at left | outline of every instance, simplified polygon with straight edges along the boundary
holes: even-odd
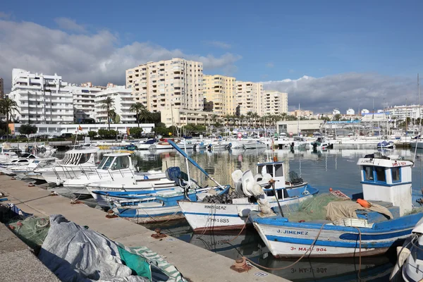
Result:
[[[74,25],[67,28],[78,30]],[[79,29],[82,31],[81,29]],[[57,73],[67,82],[91,81],[125,84],[125,70],[147,61],[183,57],[202,61],[204,71],[236,70],[241,56],[184,54],[180,49],[166,49],[152,42],[120,44],[119,35],[107,30],[94,34],[70,33],[36,23],[0,20],[0,77],[10,90],[13,68],[37,73]],[[7,87],[8,86],[8,87]]]

